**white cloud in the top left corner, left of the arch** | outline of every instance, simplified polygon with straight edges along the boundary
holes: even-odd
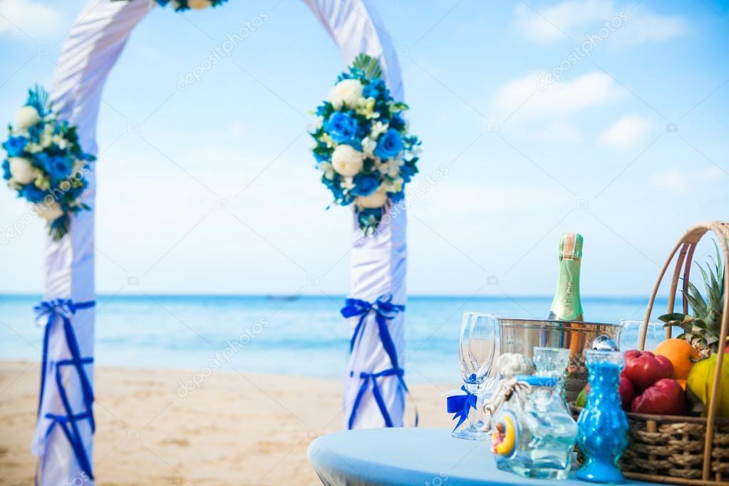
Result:
[[[35,41],[57,36],[62,26],[61,12],[39,1],[0,1],[0,34]]]

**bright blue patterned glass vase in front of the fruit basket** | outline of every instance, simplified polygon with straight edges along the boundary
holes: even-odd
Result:
[[[588,350],[586,361],[590,393],[577,420],[577,444],[586,460],[577,477],[590,482],[624,482],[617,465],[628,446],[628,418],[618,391],[623,354]]]

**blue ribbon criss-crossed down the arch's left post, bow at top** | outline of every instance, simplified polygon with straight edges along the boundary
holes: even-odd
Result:
[[[55,365],[55,383],[58,387],[58,395],[61,398],[65,414],[56,415],[47,413],[44,415],[45,418],[51,420],[45,436],[50,436],[50,433],[55,426],[60,427],[63,434],[66,436],[66,439],[69,440],[69,444],[71,444],[74,455],[76,455],[76,459],[78,460],[79,467],[89,479],[93,479],[91,463],[86,454],[86,448],[84,447],[77,423],[81,420],[88,420],[92,434],[96,429],[96,424],[93,418],[93,388],[88,376],[86,375],[86,370],[84,369],[84,365],[93,363],[93,358],[82,358],[79,342],[76,339],[76,333],[74,332],[74,326],[71,324],[71,316],[73,316],[79,309],[89,309],[94,305],[95,302],[93,301],[74,303],[70,299],[54,299],[41,302],[39,305],[34,307],[36,312],[36,322],[45,326],[38,415],[41,413],[43,394],[45,393],[46,388],[50,334],[53,325],[57,322],[61,322],[63,324],[63,335],[66,337],[66,345],[71,353],[71,358],[55,361],[55,363],[51,366]],[[66,393],[66,387],[63,385],[63,374],[61,373],[61,369],[63,367],[74,367],[79,375],[79,383],[81,384],[81,391],[85,405],[85,410],[81,413],[74,413],[73,409],[71,409],[71,401],[69,401],[69,395]]]

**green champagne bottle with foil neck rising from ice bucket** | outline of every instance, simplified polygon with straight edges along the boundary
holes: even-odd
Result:
[[[580,301],[580,262],[582,235],[564,233],[559,242],[559,280],[554,293],[550,319],[582,321]]]

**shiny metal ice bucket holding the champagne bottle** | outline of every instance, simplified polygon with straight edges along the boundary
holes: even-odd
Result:
[[[602,345],[620,342],[620,324],[581,321],[496,318],[499,322],[499,352],[521,353],[532,358],[535,346],[570,351],[565,377],[567,401],[574,401],[587,383],[585,350],[597,339]],[[609,339],[611,341],[606,340]]]

